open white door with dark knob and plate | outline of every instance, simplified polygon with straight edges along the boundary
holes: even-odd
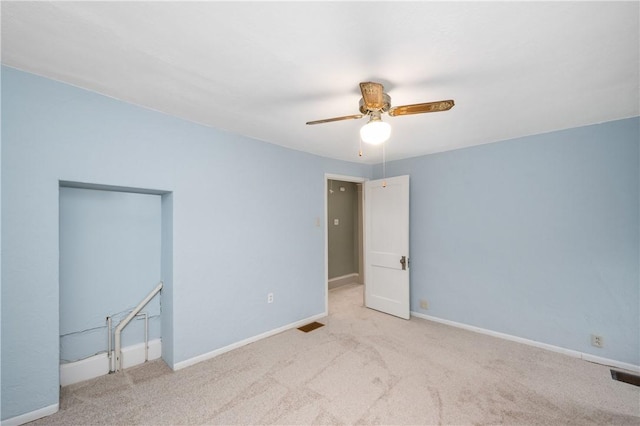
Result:
[[[409,319],[409,176],[364,188],[365,306]]]

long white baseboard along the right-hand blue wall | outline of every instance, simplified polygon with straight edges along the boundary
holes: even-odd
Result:
[[[518,336],[512,336],[510,334],[500,333],[498,331],[488,330],[486,328],[475,327],[473,325],[463,324],[460,322],[455,322],[455,321],[450,321],[442,318],[432,317],[429,315],[424,315],[419,312],[411,312],[411,315],[417,318],[426,319],[428,321],[438,322],[441,324],[450,325],[452,327],[462,328],[462,329],[473,331],[476,333],[486,334],[488,336],[498,337],[500,339],[510,340],[512,342],[522,343],[525,345],[534,346],[536,348],[546,349],[552,352],[558,352],[574,358],[583,359],[585,361],[595,362],[597,364],[603,364],[611,367],[622,368],[624,370],[640,372],[639,365],[616,361],[614,359],[609,359],[609,358],[602,358],[599,356],[586,354],[584,352],[574,351],[572,349],[561,348],[560,346],[549,345],[547,343],[536,342],[535,340],[529,340],[529,339],[525,339]]]

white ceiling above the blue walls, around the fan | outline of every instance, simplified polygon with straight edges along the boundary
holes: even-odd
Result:
[[[391,105],[386,159],[634,117],[640,2],[9,2],[2,63],[314,154],[358,158],[358,83]]]

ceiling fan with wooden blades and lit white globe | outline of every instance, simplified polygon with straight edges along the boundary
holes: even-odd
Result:
[[[361,114],[307,121],[307,124],[329,123],[332,121],[352,120],[369,116],[369,122],[360,129],[360,137],[363,142],[377,145],[385,142],[391,135],[391,126],[382,121],[382,113],[386,112],[391,117],[395,117],[399,115],[447,111],[453,108],[454,105],[453,100],[449,99],[446,101],[391,107],[391,97],[384,92],[382,84],[371,81],[360,83],[360,91],[362,92],[362,98],[360,99]]]

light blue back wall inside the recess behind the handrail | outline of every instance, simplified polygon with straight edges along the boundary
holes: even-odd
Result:
[[[60,188],[60,360],[105,353],[112,327],[161,281],[161,196]],[[142,309],[149,340],[161,337],[160,295]],[[144,321],[122,332],[122,346],[144,342]]]

